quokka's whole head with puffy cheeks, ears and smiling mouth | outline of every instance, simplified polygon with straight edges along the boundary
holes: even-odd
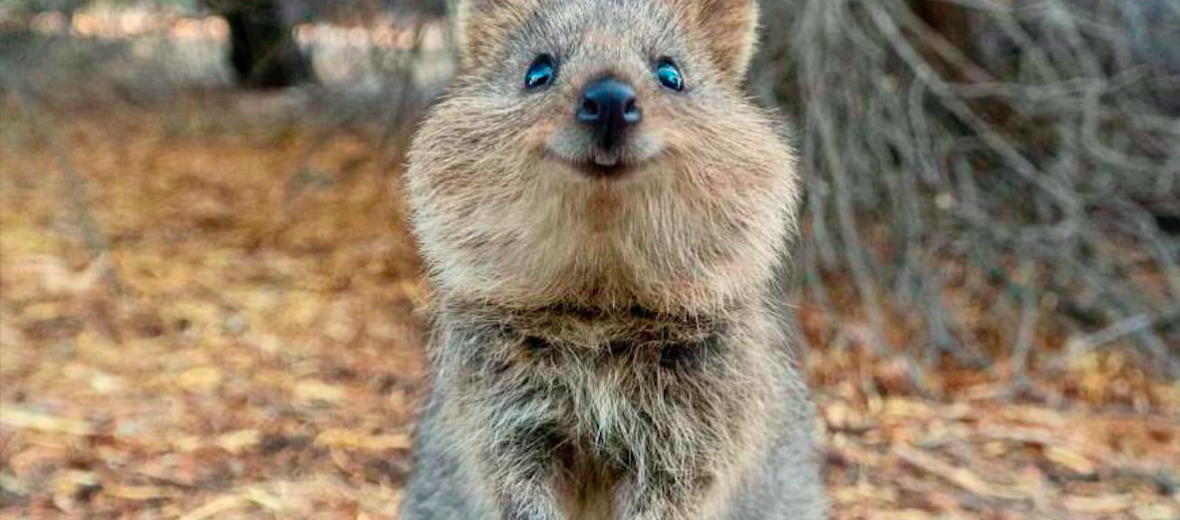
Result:
[[[765,282],[793,158],[741,91],[755,0],[463,0],[409,157],[448,292],[703,310]]]

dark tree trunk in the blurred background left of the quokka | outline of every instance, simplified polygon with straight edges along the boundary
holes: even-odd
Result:
[[[230,29],[230,65],[238,84],[280,88],[314,81],[314,73],[278,0],[223,2]]]

